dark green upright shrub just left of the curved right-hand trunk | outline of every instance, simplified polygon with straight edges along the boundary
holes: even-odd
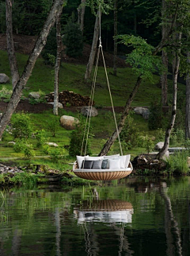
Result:
[[[150,106],[150,115],[148,119],[148,127],[150,130],[157,130],[162,126],[161,105],[157,101],[153,101]]]

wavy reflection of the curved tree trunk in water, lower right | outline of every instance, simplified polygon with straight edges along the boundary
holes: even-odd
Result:
[[[177,220],[173,215],[171,200],[167,192],[165,192],[165,188],[161,188],[161,196],[165,200],[165,235],[168,245],[167,255],[182,256],[180,230],[178,228]]]

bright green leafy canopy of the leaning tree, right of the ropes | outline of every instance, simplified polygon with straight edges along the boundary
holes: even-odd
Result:
[[[120,35],[117,37],[120,43],[132,48],[127,54],[126,62],[131,65],[138,76],[153,82],[153,73],[161,71],[161,59],[153,55],[154,47],[147,44],[142,37],[133,35]]]

